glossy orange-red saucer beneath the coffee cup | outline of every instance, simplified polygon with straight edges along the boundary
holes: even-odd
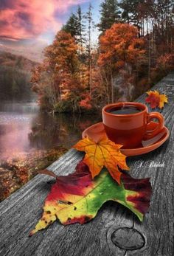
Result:
[[[153,130],[158,125],[157,122],[150,122],[147,125],[148,130]],[[95,125],[91,125],[90,127],[86,128],[83,131],[82,137],[85,138],[86,136],[90,137],[97,141],[102,135],[105,134],[105,128],[102,125],[102,122],[98,122]],[[144,153],[148,153],[150,151],[154,151],[156,148],[159,148],[169,137],[170,132],[167,127],[164,126],[162,131],[154,136],[152,139],[142,140],[141,145],[137,146],[136,148],[121,148],[120,151],[125,156],[138,156]]]

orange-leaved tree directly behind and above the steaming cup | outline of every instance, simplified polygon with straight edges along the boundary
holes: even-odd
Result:
[[[139,38],[138,30],[130,24],[113,24],[100,36],[98,64],[108,88],[108,102],[114,102],[114,77],[127,69],[127,82],[137,75],[139,60],[145,55],[145,39]],[[129,79],[129,80],[128,80]]]

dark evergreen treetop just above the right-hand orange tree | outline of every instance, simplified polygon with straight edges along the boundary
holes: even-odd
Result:
[[[117,0],[105,0],[100,4],[100,23],[97,24],[100,32],[108,30],[112,24],[119,22],[120,10]]]

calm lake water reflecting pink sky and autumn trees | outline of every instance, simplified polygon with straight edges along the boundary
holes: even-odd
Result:
[[[99,115],[91,114],[53,117],[34,103],[0,105],[0,160],[33,149],[71,148],[85,128],[100,121]]]

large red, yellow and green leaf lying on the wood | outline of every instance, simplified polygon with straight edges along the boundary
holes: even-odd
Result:
[[[48,170],[40,173],[55,176]],[[109,200],[123,204],[142,221],[149,208],[150,196],[148,178],[133,179],[123,173],[119,186],[103,169],[99,176],[91,179],[88,166],[81,161],[74,173],[56,177],[56,183],[46,197],[42,218],[29,235],[45,229],[57,218],[63,225],[84,224],[94,218],[102,204]]]

